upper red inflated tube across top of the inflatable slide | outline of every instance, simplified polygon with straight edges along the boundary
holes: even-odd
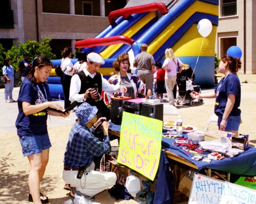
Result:
[[[163,15],[168,13],[168,10],[164,3],[155,2],[152,4],[146,4],[142,6],[135,6],[130,8],[118,9],[116,11],[112,11],[109,14],[110,23],[115,22],[115,18],[123,16],[124,19],[128,18],[131,14],[135,13],[145,13],[150,11],[160,11]]]

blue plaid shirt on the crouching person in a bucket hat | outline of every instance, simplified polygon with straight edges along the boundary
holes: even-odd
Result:
[[[111,144],[109,136],[104,136],[104,141],[99,141],[88,129],[75,123],[70,131],[69,140],[64,155],[64,167],[77,168],[88,167],[93,157],[110,152]]]

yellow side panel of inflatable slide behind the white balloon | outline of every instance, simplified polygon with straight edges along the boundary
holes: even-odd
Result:
[[[217,26],[214,25],[212,26],[211,33],[203,39],[203,37],[199,34],[197,30],[197,24],[194,24],[191,28],[189,28],[185,35],[183,35],[182,38],[172,47],[175,56],[214,56],[216,32]]]

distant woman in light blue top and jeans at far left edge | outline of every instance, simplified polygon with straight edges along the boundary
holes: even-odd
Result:
[[[12,91],[14,87],[14,70],[9,58],[4,60],[3,75],[6,78],[5,84],[5,102],[12,103],[15,100],[12,98]]]

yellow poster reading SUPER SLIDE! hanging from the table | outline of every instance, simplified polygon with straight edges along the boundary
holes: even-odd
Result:
[[[161,154],[163,122],[123,112],[117,162],[154,181]]]

